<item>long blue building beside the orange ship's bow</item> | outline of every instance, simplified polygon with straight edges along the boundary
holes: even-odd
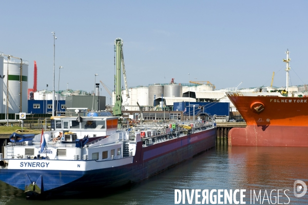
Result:
[[[207,113],[210,116],[213,116],[213,115],[229,116],[229,107],[230,107],[229,103],[219,103],[219,102],[174,103],[174,110],[183,111],[184,116],[194,115],[194,110],[195,110],[195,116],[201,113]]]

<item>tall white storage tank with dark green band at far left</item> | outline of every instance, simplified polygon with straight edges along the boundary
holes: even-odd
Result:
[[[9,77],[9,113],[19,113],[20,106],[21,112],[28,112],[28,66],[29,63],[23,60],[23,68],[21,67],[21,60],[19,59],[4,59],[3,74],[5,75],[4,86],[3,86],[3,98],[5,99],[4,108],[7,105],[7,76]],[[7,70],[9,69],[9,75]],[[22,92],[20,96],[20,74],[22,72],[21,87]],[[22,101],[22,105],[21,104]]]

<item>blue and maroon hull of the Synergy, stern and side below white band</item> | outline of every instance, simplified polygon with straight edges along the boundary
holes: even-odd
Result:
[[[119,167],[88,171],[1,169],[0,180],[21,190],[25,181],[42,179],[42,194],[65,195],[74,191],[117,188],[142,181],[216,145],[216,128],[143,147],[137,143],[136,154],[123,158],[131,163]],[[12,159],[10,159],[12,160]],[[22,159],[13,159],[20,160]],[[33,162],[43,161],[32,159]],[[44,160],[56,161],[56,160]],[[80,160],[82,161],[82,160]],[[92,160],[93,161],[93,160]],[[115,160],[114,160],[115,161]],[[104,161],[96,161],[103,163]],[[10,162],[9,162],[10,163]],[[32,195],[32,192],[26,193]]]

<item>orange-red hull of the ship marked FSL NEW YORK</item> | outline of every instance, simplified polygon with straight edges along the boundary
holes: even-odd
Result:
[[[308,147],[308,98],[227,96],[247,124],[229,131],[228,145]]]

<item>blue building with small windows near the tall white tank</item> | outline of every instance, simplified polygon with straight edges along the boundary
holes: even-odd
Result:
[[[58,115],[61,112],[65,112],[65,100],[55,100],[54,110],[57,111]],[[28,113],[32,114],[51,114],[52,113],[52,100],[28,100]]]

